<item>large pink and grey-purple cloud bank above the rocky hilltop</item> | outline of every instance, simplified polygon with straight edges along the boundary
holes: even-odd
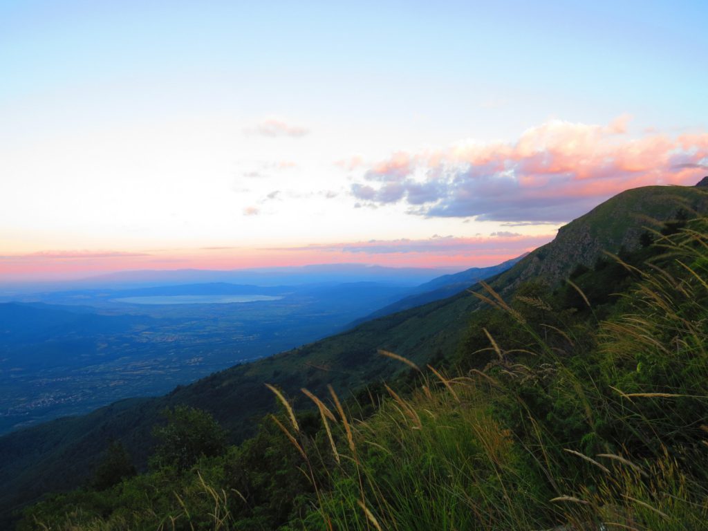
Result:
[[[368,166],[350,191],[362,205],[400,202],[413,215],[567,222],[622,190],[692,185],[708,171],[708,134],[632,138],[627,121],[552,120],[513,143],[397,152]]]

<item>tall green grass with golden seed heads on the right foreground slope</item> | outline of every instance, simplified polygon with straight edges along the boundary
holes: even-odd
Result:
[[[484,285],[476,295],[524,329],[535,352],[505,351],[485,329],[496,360],[484,372],[428,367],[416,389],[387,387],[379,411],[353,423],[351,459],[302,525],[324,529],[327,515],[339,530],[708,529],[708,235],[695,225],[703,232],[657,242],[665,253],[634,271],[591,352],[559,353],[543,331],[572,348],[569,333],[535,328]],[[562,414],[584,435],[554,426]]]

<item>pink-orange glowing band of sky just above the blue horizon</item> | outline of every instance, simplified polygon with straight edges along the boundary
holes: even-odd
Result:
[[[0,257],[0,278],[6,282],[77,280],[129,270],[239,270],[314,264],[357,263],[394,268],[467,269],[515,258],[547,243],[553,234],[426,240],[424,249],[396,249],[408,241],[363,242],[282,249],[195,249],[178,251],[43,251]],[[401,243],[402,242],[402,243]],[[416,242],[413,242],[416,243]],[[378,244],[378,245],[377,245]],[[364,251],[347,251],[351,246]],[[469,249],[464,249],[468,246]],[[359,247],[357,247],[359,249]],[[450,251],[450,249],[454,249]]]

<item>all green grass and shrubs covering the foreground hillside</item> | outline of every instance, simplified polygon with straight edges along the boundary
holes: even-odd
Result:
[[[377,354],[367,370],[401,369],[388,384],[340,399],[316,373],[302,392],[280,379],[264,389],[280,414],[240,445],[212,451],[212,418],[174,409],[146,473],[51,496],[18,528],[708,529],[708,219],[649,234],[651,245],[558,265],[567,282],[511,270],[424,307],[418,323],[462,301],[476,311],[430,365],[435,348]],[[411,314],[398,319],[412,330]],[[352,333],[381,321],[368,326]],[[164,458],[191,423],[190,458]]]

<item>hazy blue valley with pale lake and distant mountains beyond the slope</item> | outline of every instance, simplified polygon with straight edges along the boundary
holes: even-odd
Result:
[[[498,270],[474,272],[479,278]],[[445,297],[447,282],[457,278],[433,280],[438,291],[426,297]],[[169,392],[236,362],[350,328],[353,319],[382,307],[392,312],[392,302],[427,288],[211,282],[28,294],[21,304],[0,303],[0,435],[129,396]]]

